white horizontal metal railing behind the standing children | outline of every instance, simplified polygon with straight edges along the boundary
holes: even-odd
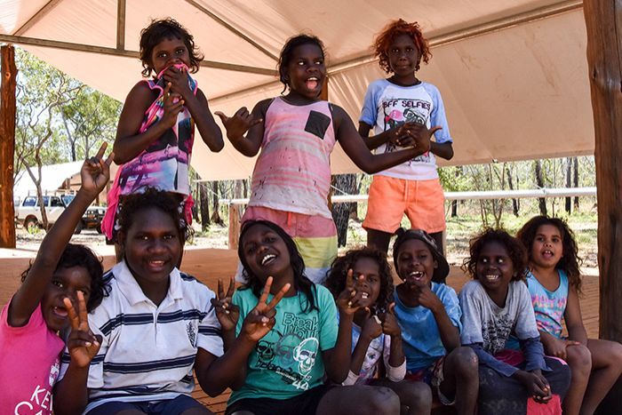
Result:
[[[518,199],[534,197],[596,196],[596,188],[535,188],[527,190],[485,190],[475,192],[445,192],[445,200]],[[367,202],[367,195],[333,195],[333,204]],[[248,204],[247,198],[219,199],[220,204]]]

